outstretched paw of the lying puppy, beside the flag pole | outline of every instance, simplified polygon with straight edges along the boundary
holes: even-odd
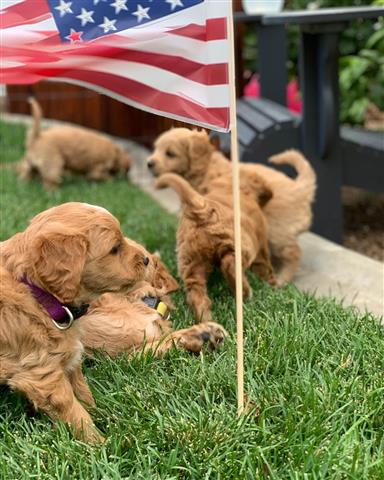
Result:
[[[206,345],[209,350],[215,350],[224,342],[228,333],[218,323],[207,322],[187,328],[177,339],[177,346],[192,353],[200,353]]]

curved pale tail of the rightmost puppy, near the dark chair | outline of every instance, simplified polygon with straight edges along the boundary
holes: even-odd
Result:
[[[297,150],[286,150],[285,152],[273,155],[269,161],[275,165],[291,165],[297,171],[296,185],[312,201],[316,191],[316,174],[308,160]]]

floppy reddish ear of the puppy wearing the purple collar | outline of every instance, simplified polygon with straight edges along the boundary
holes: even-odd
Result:
[[[50,232],[32,245],[33,276],[61,302],[76,297],[88,250],[87,239],[79,234]]]

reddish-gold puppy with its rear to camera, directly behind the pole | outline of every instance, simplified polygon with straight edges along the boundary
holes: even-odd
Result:
[[[177,231],[177,258],[181,278],[187,290],[196,321],[211,321],[211,300],[207,293],[208,275],[217,265],[232,291],[236,290],[235,245],[233,231],[231,177],[211,182],[211,190],[200,195],[179,175],[167,173],[156,181],[157,188],[172,187],[183,205]],[[242,179],[242,268],[243,295],[251,297],[246,277],[251,269],[270,285],[275,284],[270,262],[267,224],[260,205],[272,197],[269,188],[256,174]]]

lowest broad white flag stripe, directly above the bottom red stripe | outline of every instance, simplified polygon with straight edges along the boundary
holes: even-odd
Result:
[[[44,64],[36,64],[37,67],[39,65]],[[64,58],[52,66],[118,75],[161,92],[178,95],[203,107],[228,107],[229,105],[228,85],[202,85],[175,73],[137,62],[104,58],[100,61],[99,58],[81,56]]]

